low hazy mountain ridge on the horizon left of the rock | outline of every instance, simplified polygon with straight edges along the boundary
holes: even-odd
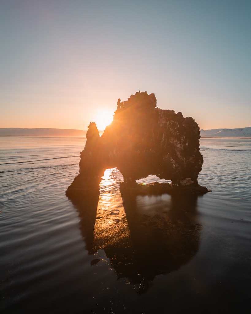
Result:
[[[5,127],[0,128],[0,135],[23,135],[23,136],[85,136],[86,131],[75,129],[54,129],[47,127],[22,128]]]

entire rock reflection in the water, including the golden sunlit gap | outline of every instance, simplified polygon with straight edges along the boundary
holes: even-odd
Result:
[[[196,196],[122,195],[119,209],[114,209],[113,198],[110,202],[107,210],[97,197],[72,201],[88,252],[103,249],[118,278],[129,279],[138,293],[156,275],[178,270],[197,253],[201,225]]]

